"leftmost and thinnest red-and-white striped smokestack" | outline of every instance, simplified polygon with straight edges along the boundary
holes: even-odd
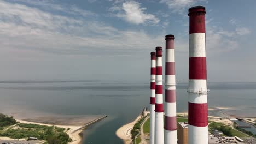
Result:
[[[151,52],[150,144],[155,142],[155,52]]]

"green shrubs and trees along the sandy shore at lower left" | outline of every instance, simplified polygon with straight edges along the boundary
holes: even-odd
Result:
[[[45,143],[49,144],[66,144],[71,141],[69,135],[65,133],[65,128],[18,123],[13,117],[3,114],[0,114],[0,136],[11,139],[36,137],[38,140],[45,140]]]

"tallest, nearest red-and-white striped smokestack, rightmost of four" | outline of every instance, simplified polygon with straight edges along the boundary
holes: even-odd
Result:
[[[189,144],[208,143],[205,7],[188,10],[189,16]]]

